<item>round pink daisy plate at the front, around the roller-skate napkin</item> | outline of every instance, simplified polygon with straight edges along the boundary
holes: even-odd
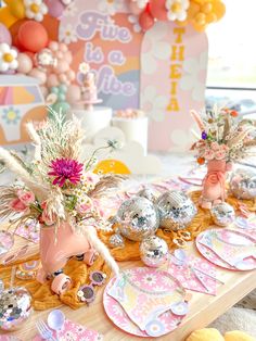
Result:
[[[132,279],[137,286],[141,286],[146,290],[161,291],[182,288],[178,280],[170,283],[170,280],[167,281],[165,276],[161,276],[162,271],[153,268],[136,267],[129,269],[128,271],[129,278]],[[123,329],[124,331],[141,338],[152,338],[152,336],[149,336],[145,331],[142,331],[136,324],[133,324],[120,304],[107,294],[107,290],[113,286],[114,281],[115,278],[108,282],[103,295],[103,305],[106,315],[118,328]],[[162,314],[157,321],[151,326],[151,328],[154,329],[154,331],[158,334],[161,333],[161,336],[164,336],[175,330],[184,317],[185,315],[178,316],[168,311]]]

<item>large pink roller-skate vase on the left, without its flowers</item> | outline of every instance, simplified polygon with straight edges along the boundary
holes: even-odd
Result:
[[[84,262],[91,265],[94,260],[94,250],[84,235],[72,230],[68,223],[63,223],[55,229],[54,226],[41,225],[40,229],[40,258],[41,269],[37,279],[43,283],[48,278],[54,277],[52,290],[56,293],[64,292],[71,278],[62,273],[67,261],[73,256],[84,255]]]

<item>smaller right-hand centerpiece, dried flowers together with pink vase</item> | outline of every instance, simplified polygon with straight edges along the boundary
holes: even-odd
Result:
[[[226,172],[232,163],[254,155],[256,127],[252,121],[240,119],[233,110],[215,106],[202,115],[191,112],[201,136],[192,146],[197,163],[207,163],[207,175],[203,180],[201,205],[210,209],[213,203],[226,199]]]

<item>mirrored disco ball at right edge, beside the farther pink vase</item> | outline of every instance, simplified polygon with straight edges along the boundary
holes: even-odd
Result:
[[[231,175],[230,190],[238,199],[256,198],[256,173],[251,169],[238,169]]]

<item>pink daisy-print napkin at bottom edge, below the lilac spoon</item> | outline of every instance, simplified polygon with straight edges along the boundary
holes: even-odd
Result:
[[[56,336],[56,332],[53,332]],[[59,341],[102,341],[103,336],[95,330],[88,329],[85,326],[65,320],[64,327],[57,332]],[[40,336],[36,336],[33,341],[42,341]]]

